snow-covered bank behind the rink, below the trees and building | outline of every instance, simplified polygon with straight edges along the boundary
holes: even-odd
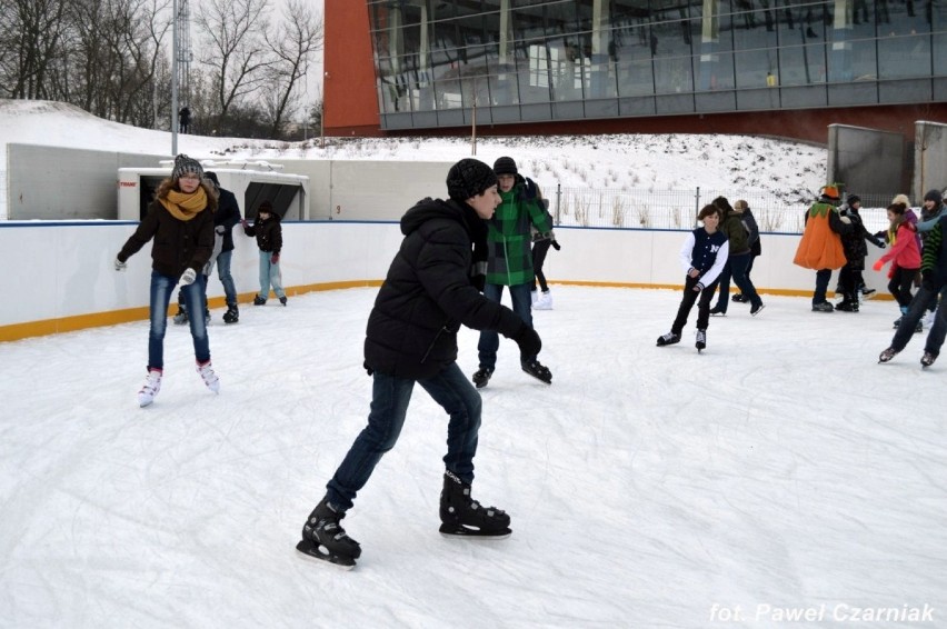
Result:
[[[8,142],[170,154],[171,134],[110,122],[76,107],[50,101],[0,99],[0,146]],[[727,191],[732,198],[767,198],[775,204],[808,204],[825,184],[823,147],[749,136],[646,134],[479,138],[328,138],[321,147],[178,136],[178,151],[200,159],[357,159],[455,161],[476,157],[490,164],[514,156],[544,190]],[[0,150],[0,174],[6,170]],[[0,177],[0,186],[4,184]],[[0,194],[0,218],[7,216]],[[754,204],[752,207],[759,207]],[[799,214],[800,212],[796,212]],[[796,217],[797,218],[797,217]],[[787,226],[781,226],[787,227]],[[791,231],[791,229],[789,229]]]

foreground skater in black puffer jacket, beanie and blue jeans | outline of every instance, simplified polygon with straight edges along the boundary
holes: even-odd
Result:
[[[382,455],[395,447],[415,383],[450,416],[440,495],[445,535],[506,537],[510,518],[470,497],[480,428],[480,393],[457,366],[460,326],[496,330],[536,356],[539,336],[509,308],[476,288],[474,248],[486,243],[489,219],[500,202],[497,177],[476,159],[453,164],[450,199],[423,199],[401,218],[405,239],[368,318],[365,367],[372,377],[368,426],[359,433],[326,497],[309,515],[297,550],[351,568],[361,553],[339,521],[368,482]]]

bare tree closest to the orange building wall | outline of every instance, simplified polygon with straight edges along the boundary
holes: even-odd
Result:
[[[322,22],[300,0],[289,0],[283,8],[283,26],[267,37],[276,56],[270,72],[271,89],[267,90],[267,112],[270,136],[282,137],[282,127],[296,113],[299,101],[297,88],[309,72],[312,57],[322,49]]]

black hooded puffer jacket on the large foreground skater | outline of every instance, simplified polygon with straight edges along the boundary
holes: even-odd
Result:
[[[368,317],[365,365],[399,378],[430,378],[457,360],[460,326],[516,335],[525,323],[471,283],[484,220],[467,203],[423,199],[401,218],[401,247]]]

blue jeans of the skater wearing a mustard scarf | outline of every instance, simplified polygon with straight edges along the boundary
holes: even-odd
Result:
[[[168,328],[168,304],[171,302],[171,291],[178,283],[178,278],[162,276],[151,271],[151,327],[148,330],[148,367],[149,369],[165,368],[165,331]],[[190,286],[181,287],[181,297],[188,312],[203,312],[203,294],[207,289],[207,277],[198,273]],[[210,360],[210,340],[207,337],[207,326],[203,317],[188,317],[191,327],[191,338],[195,341],[195,358],[198,362]]]

